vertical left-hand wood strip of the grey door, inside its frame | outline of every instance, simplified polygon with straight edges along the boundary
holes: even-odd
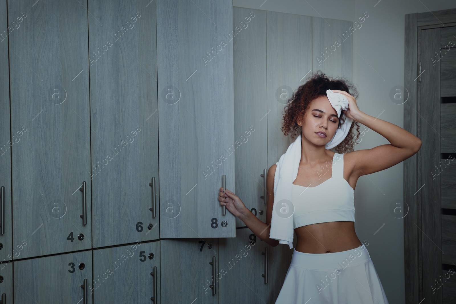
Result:
[[[421,31],[421,58],[430,58],[440,43],[440,29]],[[431,178],[429,173],[440,162],[440,136],[432,125],[440,125],[440,65],[422,60],[421,69],[427,73],[421,75],[420,115],[427,123],[421,124],[420,149],[422,158],[421,176],[421,239],[423,246],[423,286],[431,286],[434,279],[441,273],[442,240],[440,231],[440,175]],[[423,288],[423,297],[430,303],[441,303],[442,294],[432,293],[431,289]]]

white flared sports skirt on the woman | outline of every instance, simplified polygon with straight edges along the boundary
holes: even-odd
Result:
[[[388,304],[364,245],[330,253],[293,248],[275,304]]]

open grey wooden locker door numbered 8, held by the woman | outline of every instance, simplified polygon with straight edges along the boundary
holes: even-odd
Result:
[[[157,1],[161,238],[236,235],[232,31],[231,0]]]

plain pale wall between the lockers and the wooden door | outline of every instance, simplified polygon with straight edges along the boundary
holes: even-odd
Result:
[[[404,15],[456,8],[451,0],[233,0],[233,6],[284,13],[357,21],[368,12],[361,28],[353,32],[353,81],[361,111],[404,127],[404,105],[389,98],[404,85]],[[369,130],[355,149],[389,144]],[[403,163],[364,175],[355,191],[355,229],[373,260],[390,304],[405,303],[404,224],[389,211],[404,197]],[[384,224],[384,225],[383,225]],[[383,226],[383,227],[382,227]],[[381,227],[381,228],[380,228]],[[366,242],[366,243],[367,243]]]

